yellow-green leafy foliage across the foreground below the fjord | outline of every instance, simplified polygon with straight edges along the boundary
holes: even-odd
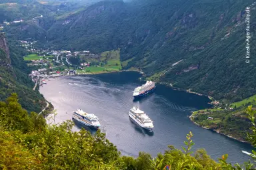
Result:
[[[253,121],[255,112],[249,110]],[[105,134],[97,131],[91,135],[81,129],[71,131],[73,123],[60,125],[46,124],[41,115],[27,114],[12,94],[5,102],[0,102],[0,169],[241,169],[227,163],[227,155],[215,162],[204,149],[194,155],[190,151],[194,145],[190,132],[185,141],[184,151],[168,146],[165,153],[152,158],[148,153],[139,157],[121,156],[113,143],[105,139]],[[254,135],[251,140],[255,141]],[[255,152],[253,152],[255,153]],[[246,169],[255,169],[247,163]]]

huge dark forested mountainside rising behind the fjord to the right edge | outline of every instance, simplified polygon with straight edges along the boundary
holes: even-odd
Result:
[[[245,63],[245,7],[252,3],[101,1],[56,20],[47,31],[48,45],[95,52],[121,48],[122,61],[133,58],[125,69],[135,66],[153,80],[238,101],[256,93],[254,55]],[[251,21],[254,13],[252,6]]]

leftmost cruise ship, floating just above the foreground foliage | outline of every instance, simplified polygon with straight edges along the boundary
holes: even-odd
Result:
[[[77,120],[81,124],[84,124],[85,126],[89,126],[91,128],[98,129],[101,124],[99,124],[99,119],[94,114],[88,114],[86,112],[83,112],[81,109],[77,109],[73,112],[72,118],[74,120]]]

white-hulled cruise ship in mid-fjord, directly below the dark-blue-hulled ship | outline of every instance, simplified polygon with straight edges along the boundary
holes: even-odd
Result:
[[[154,128],[153,121],[149,118],[149,116],[147,116],[147,114],[145,114],[142,110],[139,110],[139,108],[136,106],[131,108],[129,117],[144,129],[152,131]]]

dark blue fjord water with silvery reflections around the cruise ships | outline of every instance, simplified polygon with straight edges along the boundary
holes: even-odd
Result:
[[[249,159],[241,152],[251,152],[253,148],[249,144],[200,128],[189,120],[192,111],[210,106],[208,98],[157,84],[155,93],[133,100],[132,91],[143,84],[139,82],[140,76],[137,72],[63,76],[48,81],[40,92],[57,110],[56,123],[72,120],[72,112],[77,108],[98,116],[101,130],[107,132],[107,139],[117,145],[123,155],[136,157],[139,151],[145,151],[155,157],[165,151],[167,145],[181,149],[186,134],[192,131],[194,151],[205,148],[215,160],[228,153],[231,163]],[[153,133],[129,119],[128,112],[133,106],[139,106],[154,121]],[[74,130],[80,128],[76,124]]]

